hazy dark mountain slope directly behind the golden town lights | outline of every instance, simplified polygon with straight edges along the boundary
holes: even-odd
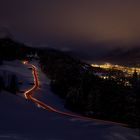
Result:
[[[71,47],[74,48],[74,46]],[[113,46],[98,43],[87,45],[87,47],[86,45],[84,47],[75,46],[75,49],[66,51],[66,53],[90,63],[112,62],[126,65],[140,63],[140,46]]]

